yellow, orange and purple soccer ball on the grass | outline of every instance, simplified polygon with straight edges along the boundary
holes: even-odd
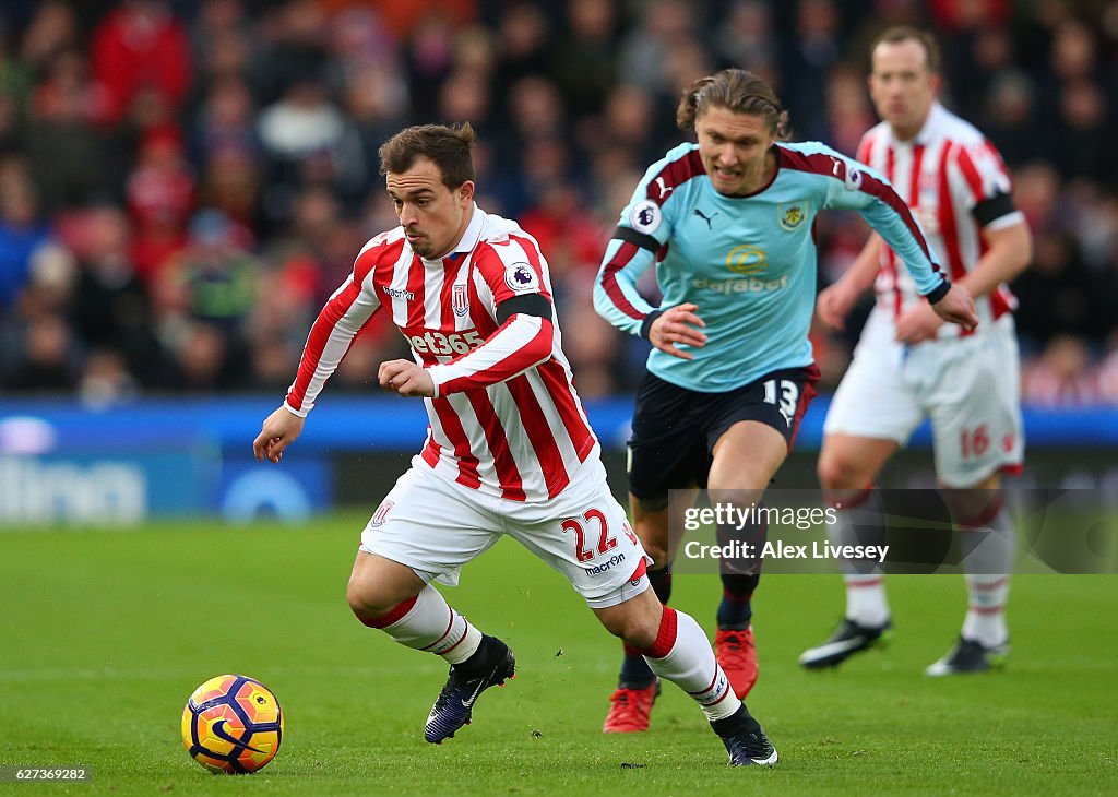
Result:
[[[282,739],[280,702],[246,675],[210,679],[182,710],[182,743],[211,772],[255,772],[273,759]]]

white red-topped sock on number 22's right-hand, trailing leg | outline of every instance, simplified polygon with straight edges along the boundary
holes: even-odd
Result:
[[[710,639],[690,615],[665,606],[656,642],[642,653],[652,671],[690,694],[711,722],[730,717],[741,705],[714,658]]]

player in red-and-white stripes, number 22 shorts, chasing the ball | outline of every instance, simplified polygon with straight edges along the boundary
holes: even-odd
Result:
[[[473,141],[470,125],[425,125],[381,146],[400,225],[366,244],[322,309],[283,406],[253,443],[256,458],[280,462],[353,338],[387,312],[414,360],[381,363],[378,380],[423,397],[430,427],[361,534],[348,598],[364,625],[449,663],[426,740],[453,737],[481,693],[513,675],[509,647],[432,586],[455,585],[463,564],[509,534],[699,703],[730,763],[776,763],[702,629],[648,589],[571,383],[547,262],[515,222],[474,203]]]

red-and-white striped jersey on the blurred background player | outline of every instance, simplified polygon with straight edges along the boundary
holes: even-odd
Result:
[[[881,122],[862,136],[858,160],[884,174],[920,221],[951,281],[966,275],[985,254],[983,229],[1024,224],[1010,197],[1010,173],[994,145],[969,122],[935,103],[912,141],[898,141]],[[878,303],[896,320],[917,300],[912,279],[897,255],[882,247],[875,284]],[[979,326],[1011,312],[1016,300],[1005,285],[975,300]],[[944,324],[940,338],[961,329]]]

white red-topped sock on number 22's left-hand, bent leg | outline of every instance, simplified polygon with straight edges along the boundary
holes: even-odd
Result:
[[[411,601],[404,601],[385,617],[367,620],[366,625],[380,628],[401,645],[437,654],[451,664],[470,658],[482,642],[482,633],[451,608],[443,594],[429,583]]]

